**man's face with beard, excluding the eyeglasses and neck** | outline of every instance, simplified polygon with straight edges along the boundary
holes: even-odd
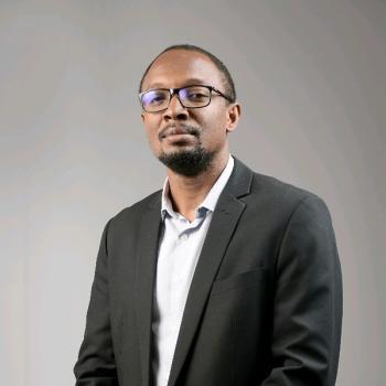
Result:
[[[189,85],[214,86],[225,93],[222,74],[212,61],[184,50],[162,54],[146,75],[142,90]],[[200,174],[218,154],[227,153],[226,133],[236,127],[232,106],[215,93],[203,108],[184,108],[174,95],[167,110],[143,111],[141,117],[156,157],[184,175]]]

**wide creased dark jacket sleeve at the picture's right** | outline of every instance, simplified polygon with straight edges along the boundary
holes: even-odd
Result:
[[[261,386],[335,385],[342,274],[329,210],[308,195],[283,234],[276,270],[272,369]]]

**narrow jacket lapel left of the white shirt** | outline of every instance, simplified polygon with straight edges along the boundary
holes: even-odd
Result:
[[[143,385],[150,385],[151,321],[157,249],[161,225],[161,193],[143,213],[138,239],[136,265],[136,310],[141,351]]]

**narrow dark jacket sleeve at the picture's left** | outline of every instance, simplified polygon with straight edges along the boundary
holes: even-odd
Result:
[[[117,371],[109,322],[108,222],[103,232],[97,256],[86,330],[74,367],[76,386],[117,386]]]

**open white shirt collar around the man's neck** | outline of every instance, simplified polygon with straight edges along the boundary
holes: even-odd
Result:
[[[210,192],[207,193],[206,197],[204,201],[199,205],[197,211],[201,208],[205,208],[206,211],[214,211],[218,201],[218,197],[221,193],[223,192],[226,183],[229,180],[229,176],[232,174],[233,168],[234,168],[234,159],[229,154],[228,162],[226,163],[225,169],[216,180],[216,182],[213,184],[211,187]],[[169,199],[169,180],[168,178],[165,179],[163,183],[163,189],[162,189],[162,201],[161,201],[161,217],[164,219],[164,216],[167,213],[172,216],[176,217],[180,214],[175,213],[172,206],[172,203]]]

